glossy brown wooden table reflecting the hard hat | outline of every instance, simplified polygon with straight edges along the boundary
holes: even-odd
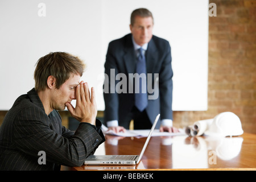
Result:
[[[139,155],[146,138],[113,137],[96,151],[100,155]],[[256,135],[212,138],[151,137],[136,166],[62,167],[63,170],[256,170]]]

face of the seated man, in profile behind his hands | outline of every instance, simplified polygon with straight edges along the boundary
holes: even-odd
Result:
[[[80,75],[71,75],[67,81],[60,86],[59,89],[55,88],[52,94],[52,109],[64,110],[65,103],[76,100],[76,86],[79,85]]]

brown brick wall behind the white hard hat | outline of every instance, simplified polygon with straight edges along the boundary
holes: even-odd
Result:
[[[175,111],[183,127],[232,111],[247,133],[256,133],[256,0],[210,0],[208,110]]]

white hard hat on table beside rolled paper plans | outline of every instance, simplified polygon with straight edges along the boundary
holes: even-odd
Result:
[[[205,135],[212,137],[238,136],[243,134],[241,121],[232,112],[224,112],[214,117],[212,125],[205,131]]]

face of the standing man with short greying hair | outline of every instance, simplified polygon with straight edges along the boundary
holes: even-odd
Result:
[[[135,16],[133,26],[130,24],[131,34],[133,34],[135,43],[142,46],[143,44],[150,42],[153,26],[153,19],[150,16],[144,18],[141,16]]]

